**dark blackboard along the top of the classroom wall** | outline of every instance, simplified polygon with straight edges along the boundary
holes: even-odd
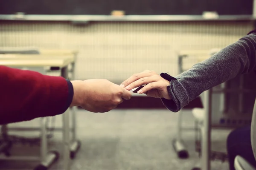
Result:
[[[0,14],[109,15],[251,15],[253,0],[0,0]]]

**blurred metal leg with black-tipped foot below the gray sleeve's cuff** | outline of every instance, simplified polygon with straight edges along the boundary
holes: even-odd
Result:
[[[178,124],[177,124],[177,138],[173,140],[173,148],[177,153],[177,156],[180,159],[187,159],[189,157],[189,153],[185,147],[185,144],[181,137],[181,130],[182,130],[182,113],[183,111],[179,111],[178,115]]]

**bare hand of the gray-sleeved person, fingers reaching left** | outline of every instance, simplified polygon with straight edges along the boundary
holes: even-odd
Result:
[[[127,90],[131,90],[133,88],[140,87],[141,85],[145,86],[137,92],[139,94],[144,93],[150,97],[172,99],[167,89],[170,82],[163,79],[154,71],[146,70],[142,73],[134,74],[122,82],[120,86],[126,88]]]

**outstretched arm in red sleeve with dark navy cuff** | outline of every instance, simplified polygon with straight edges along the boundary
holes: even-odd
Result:
[[[63,77],[0,66],[0,125],[64,113],[72,99]]]

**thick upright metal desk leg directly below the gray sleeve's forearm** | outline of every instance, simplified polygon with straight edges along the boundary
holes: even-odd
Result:
[[[212,89],[209,89],[205,93],[205,115],[204,126],[202,130],[202,170],[210,170],[210,157],[211,157],[211,112],[212,112]]]

